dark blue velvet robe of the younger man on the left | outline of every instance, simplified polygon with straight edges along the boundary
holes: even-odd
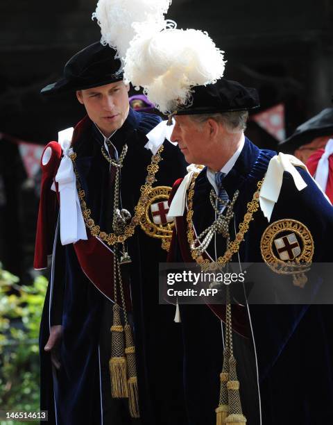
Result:
[[[119,153],[123,144],[128,144],[121,169],[121,203],[132,214],[147,175],[146,167],[151,163],[151,151],[144,148],[146,133],[159,121],[155,115],[130,110],[126,122],[112,137]],[[109,165],[101,155],[101,146],[92,137],[92,125],[88,122],[74,144],[76,167],[92,217],[102,230],[110,231],[109,200],[113,199],[113,190],[108,189]],[[171,186],[179,175],[185,174],[185,162],[169,142],[164,142],[162,158],[154,186]],[[178,344],[180,334],[175,335],[171,329],[171,306],[158,306],[158,263],[165,261],[167,254],[160,240],[148,237],[139,226],[128,240],[128,253],[133,260],[127,274],[135,327],[139,420],[130,419],[128,401],[111,399],[108,359],[112,303],[83,274],[73,244],[62,247],[59,238],[55,243],[40,330],[41,408],[49,410],[49,424],[151,425],[162,423],[162,415],[165,424],[182,424],[182,393],[178,385],[181,367],[172,358],[167,363],[169,369],[164,366],[170,347]],[[62,367],[58,372],[52,372],[50,355],[44,352],[50,324],[63,327]],[[178,392],[178,398],[170,397]]]

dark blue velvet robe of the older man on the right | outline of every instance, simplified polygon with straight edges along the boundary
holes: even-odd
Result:
[[[225,176],[223,187],[232,199],[235,190],[239,197],[234,205],[235,226],[246,213],[246,204],[257,189],[257,182],[264,177],[273,151],[259,150],[246,139],[244,149],[232,170]],[[293,178],[284,173],[282,189],[273,209],[271,221],[297,219],[305,224],[314,238],[314,262],[332,262],[333,207],[318,190],[309,174],[298,168],[307,188],[298,192]],[[209,194],[212,186],[205,169],[196,178],[194,188],[194,226],[197,234],[214,221],[214,210]],[[186,213],[185,213],[186,215]],[[260,240],[268,221],[261,210],[253,215],[245,241],[233,262],[262,262]],[[182,219],[180,219],[182,220]],[[184,221],[180,222],[186,226]],[[230,225],[231,239],[234,224]],[[173,235],[171,262],[191,261],[184,253],[184,241],[180,241],[180,226]],[[186,227],[185,227],[186,229]],[[185,234],[182,236],[186,239]],[[186,243],[188,244],[187,240]],[[217,254],[223,255],[225,240],[216,238]],[[209,251],[209,250],[208,250]],[[181,253],[182,252],[182,253]],[[260,278],[269,285],[273,274]],[[275,275],[276,276],[276,275]],[[289,283],[291,278],[289,276]],[[330,284],[326,282],[325,285]],[[269,288],[269,286],[268,286]],[[250,305],[250,331],[248,312],[245,310],[246,327],[250,338],[234,335],[235,356],[241,385],[241,399],[247,425],[260,424],[259,392],[264,425],[314,425],[331,423],[333,419],[333,308],[332,306],[307,305]],[[219,403],[219,374],[222,368],[223,343],[221,322],[208,306],[180,305],[180,317],[184,346],[184,385],[189,425],[215,423],[214,409]],[[257,352],[258,376],[255,365],[254,343]],[[250,385],[250,386],[249,386]]]

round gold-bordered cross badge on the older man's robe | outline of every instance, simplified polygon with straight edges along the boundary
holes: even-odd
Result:
[[[291,274],[294,285],[301,288],[307,282],[314,256],[314,240],[301,222],[282,219],[266,228],[260,242],[262,258],[273,272]]]

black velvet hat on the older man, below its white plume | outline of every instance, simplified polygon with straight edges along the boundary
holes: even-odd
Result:
[[[223,113],[260,106],[255,88],[247,88],[225,78],[219,79],[215,84],[197,85],[191,91],[191,105],[178,109],[177,115]]]

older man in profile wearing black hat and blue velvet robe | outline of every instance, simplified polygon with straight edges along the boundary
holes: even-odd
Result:
[[[262,288],[273,293],[274,275],[275,281],[278,277],[281,284],[287,282],[293,294],[300,288],[293,287],[292,276],[294,283],[303,285],[298,278],[304,278],[302,270],[308,269],[309,263],[332,262],[333,207],[296,158],[258,149],[244,136],[247,111],[257,106],[254,89],[221,78],[216,84],[194,88],[191,105],[174,115],[171,140],[178,142],[188,163],[205,167],[196,172],[191,169],[173,187],[169,215],[175,217],[176,228],[169,261],[232,261],[240,267],[242,263],[263,263],[262,273],[253,276],[265,284]],[[220,220],[217,224],[225,220],[223,211],[237,191],[234,215],[228,222],[229,243],[215,227],[210,244],[198,249],[203,246],[206,229],[216,224],[216,219]],[[299,268],[291,267],[283,277],[278,275],[279,269],[268,267],[268,258],[275,258],[280,266],[293,261]],[[311,292],[322,285],[314,276],[305,288]],[[330,422],[332,306],[256,306],[248,305],[244,294],[239,297],[238,293],[241,305],[232,306],[232,323],[246,423]],[[214,424],[216,407],[218,417],[223,408],[228,416],[228,402],[219,403],[225,310],[218,305],[180,302],[179,311],[188,424]],[[236,416],[220,417],[216,423],[244,424],[241,411],[230,413]]]

